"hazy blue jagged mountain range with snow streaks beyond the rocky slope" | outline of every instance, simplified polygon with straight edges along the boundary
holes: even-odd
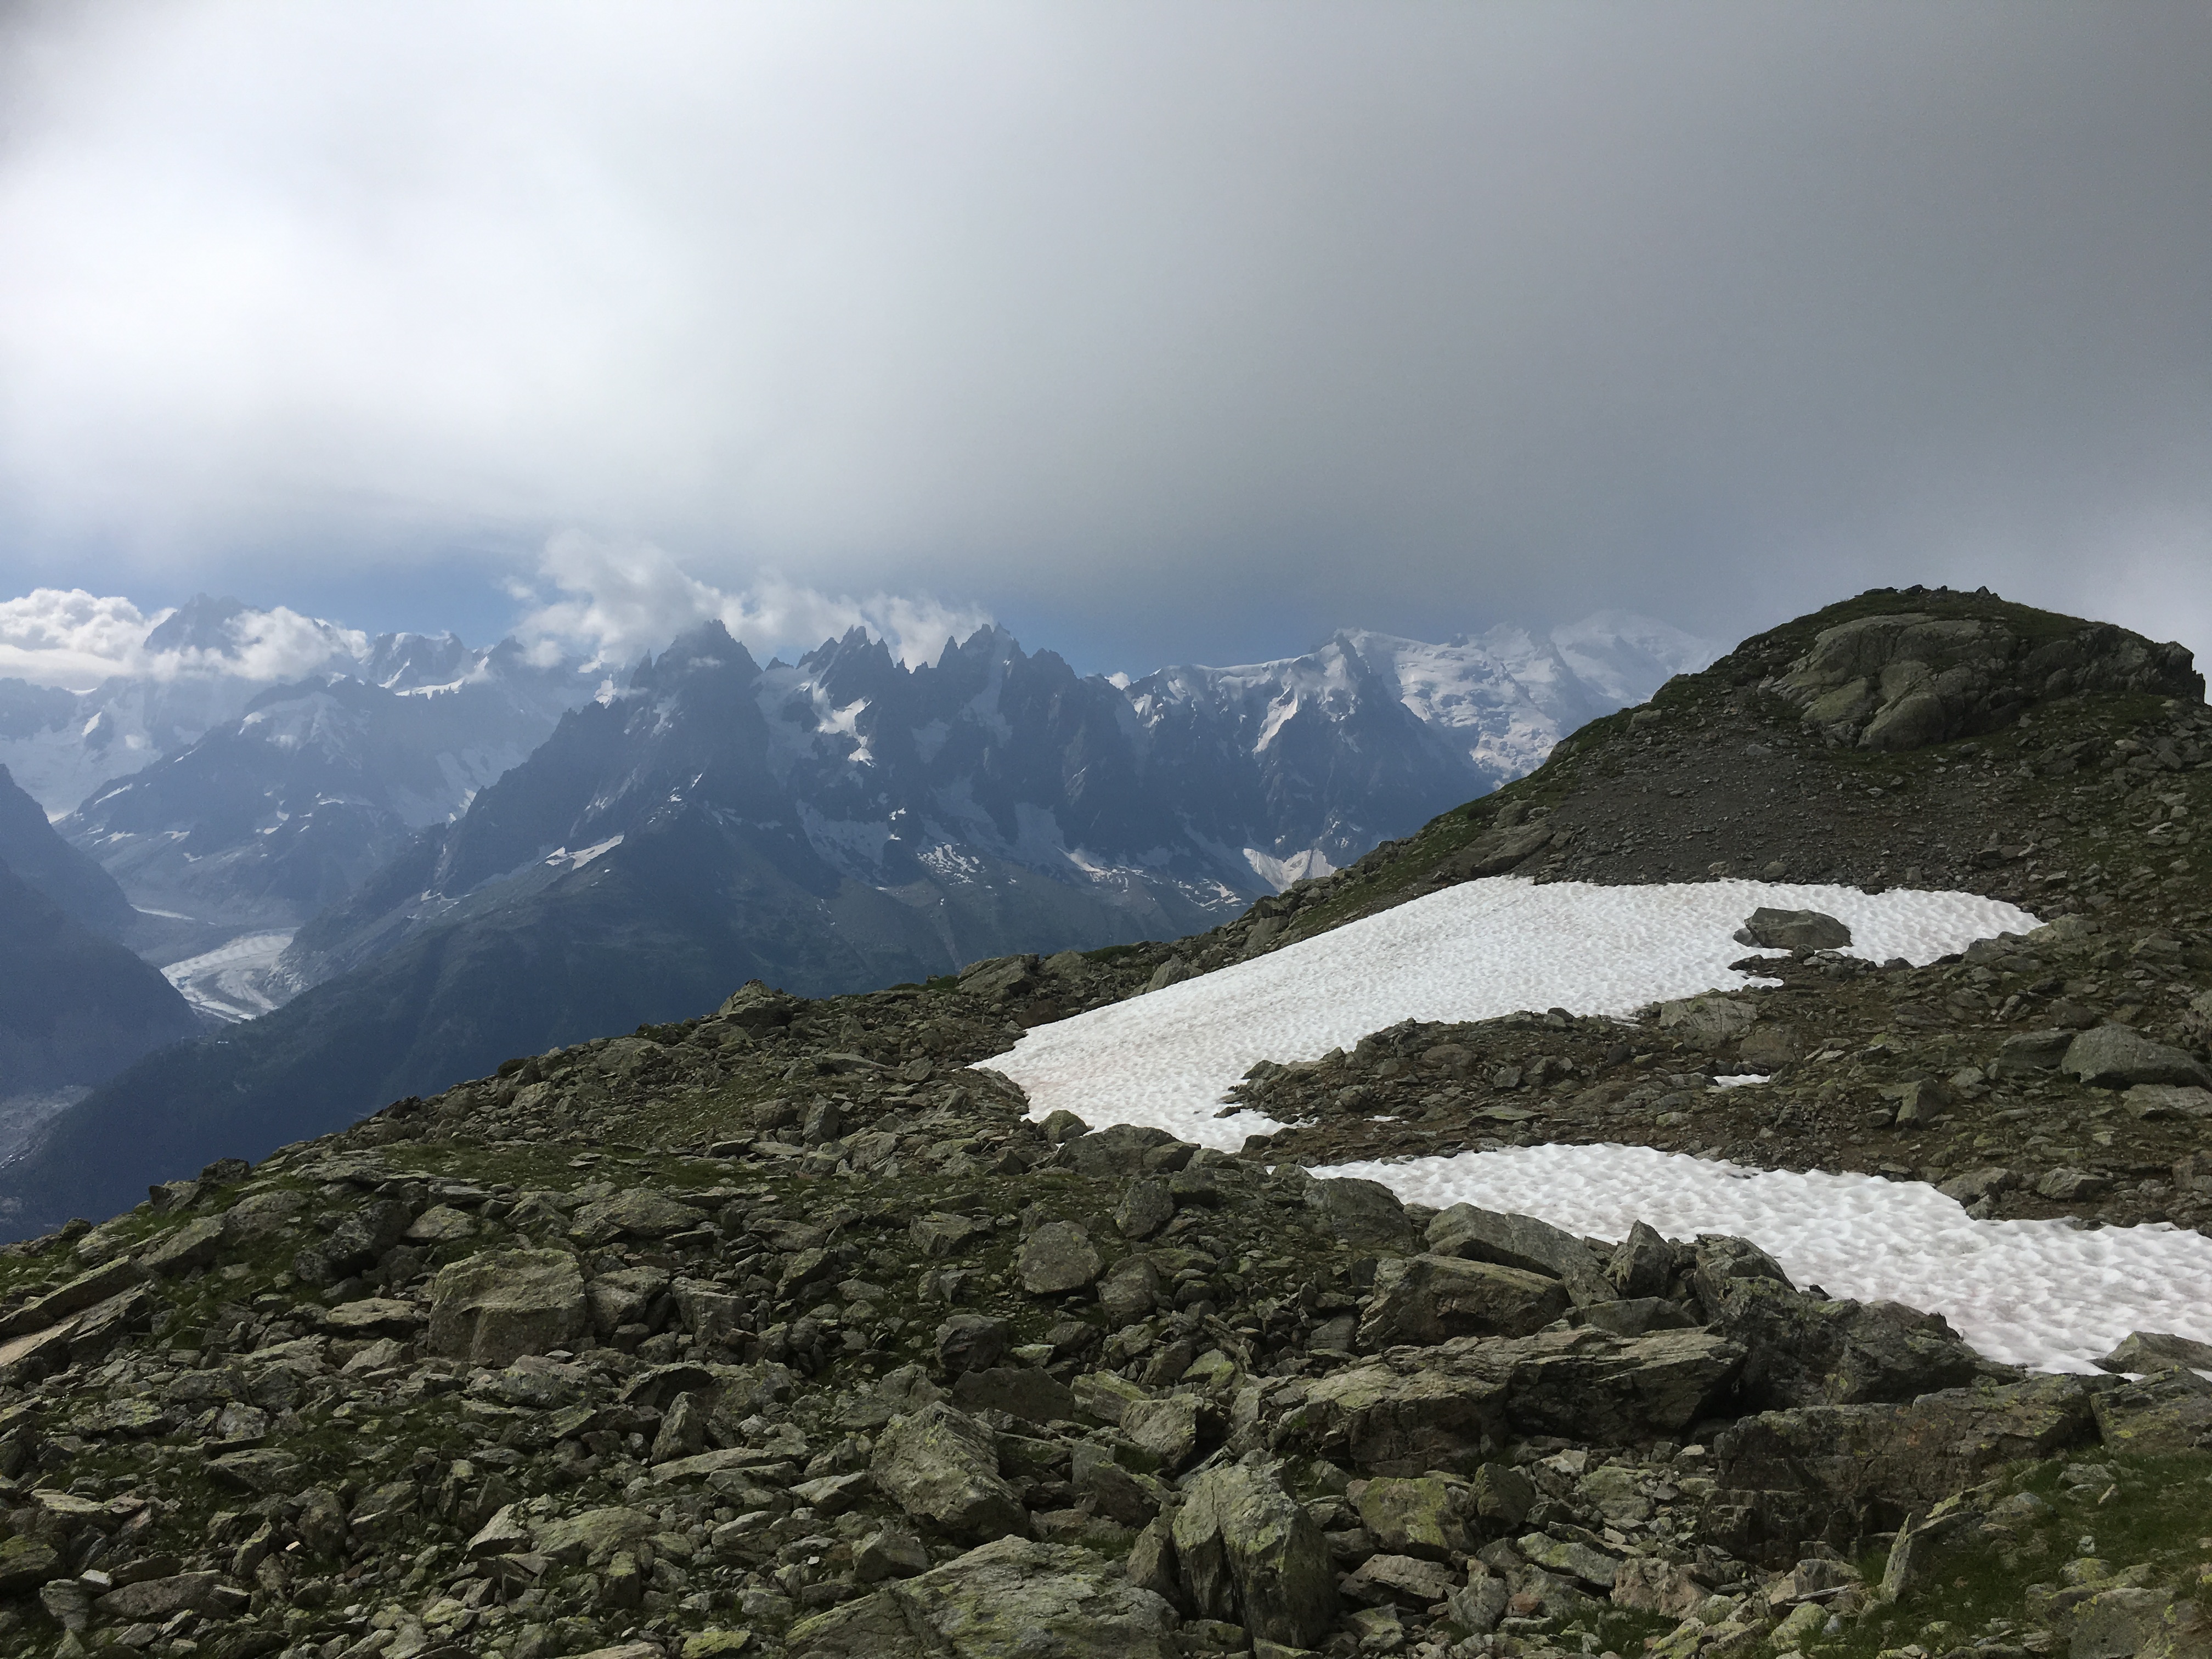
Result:
[[[1593,617],[1553,639],[1338,633],[1121,681],[1002,628],[905,668],[858,630],[761,666],[706,624],[482,781],[445,714],[520,730],[546,703],[513,692],[533,684],[520,653],[447,679],[462,657],[440,650],[356,657],[398,664],[392,684],[268,688],[64,818],[142,909],[228,927],[170,975],[204,1013],[261,1018],[106,1084],[40,1170],[128,1190],[186,1144],[294,1139],[491,1057],[695,1015],[748,978],[818,995],[1199,931],[1710,655]],[[440,803],[456,816],[400,838]],[[285,929],[310,898],[330,902]],[[124,1119],[133,1146],[64,1152]]]

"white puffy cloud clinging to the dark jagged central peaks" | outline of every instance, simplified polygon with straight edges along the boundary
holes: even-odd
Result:
[[[595,668],[630,664],[701,622],[721,622],[761,657],[783,648],[805,650],[863,628],[916,668],[936,661],[949,637],[967,639],[991,622],[987,611],[945,606],[927,595],[832,597],[783,580],[723,593],[684,571],[666,549],[582,531],[555,535],[538,575],[562,597],[533,604],[515,628],[518,637],[555,655],[577,650]],[[518,584],[515,597],[531,599],[535,591]]]

